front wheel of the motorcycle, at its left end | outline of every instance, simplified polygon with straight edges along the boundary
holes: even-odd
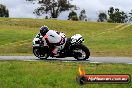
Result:
[[[33,48],[33,54],[41,60],[47,59],[49,57],[48,52],[45,52],[44,50],[38,47]]]

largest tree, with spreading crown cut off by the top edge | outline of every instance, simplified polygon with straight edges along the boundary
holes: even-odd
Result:
[[[57,18],[59,14],[63,11],[70,10],[75,5],[70,3],[71,0],[26,0],[26,1],[36,1],[40,4],[40,7],[34,10],[34,14],[41,16],[44,13],[50,13],[51,18]]]

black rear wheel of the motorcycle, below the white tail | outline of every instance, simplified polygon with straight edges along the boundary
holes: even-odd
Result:
[[[73,57],[77,60],[86,60],[90,56],[89,49],[85,45],[74,45],[72,47]]]

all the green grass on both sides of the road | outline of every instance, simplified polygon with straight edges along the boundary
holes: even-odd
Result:
[[[0,55],[32,55],[32,39],[42,25],[82,34],[91,56],[132,57],[132,25],[44,19],[0,18]],[[130,74],[130,64],[0,61],[0,88],[132,88],[129,84],[87,84],[75,81],[78,66],[87,74]]]

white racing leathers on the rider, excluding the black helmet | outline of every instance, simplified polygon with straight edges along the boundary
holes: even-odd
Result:
[[[56,47],[52,50],[54,54],[58,54],[62,50],[66,43],[65,34],[54,30],[49,30],[43,37],[44,44],[50,47],[50,44],[54,44]],[[44,45],[45,46],[45,45]]]

